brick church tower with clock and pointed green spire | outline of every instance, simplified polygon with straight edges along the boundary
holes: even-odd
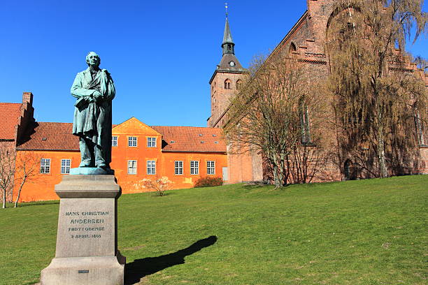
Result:
[[[226,13],[226,24],[222,43],[222,60],[210,80],[211,85],[211,117],[208,126],[221,128],[224,126],[224,113],[229,107],[230,98],[235,94],[247,76],[248,71],[241,66],[235,56],[235,43],[231,36],[229,17]]]

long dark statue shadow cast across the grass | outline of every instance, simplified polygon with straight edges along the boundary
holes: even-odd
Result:
[[[184,264],[186,256],[190,256],[204,247],[211,247],[215,242],[217,242],[217,237],[215,235],[211,235],[211,237],[204,238],[204,240],[198,240],[190,247],[180,249],[173,254],[136,259],[131,263],[127,263],[127,265],[125,265],[124,284],[137,284],[140,282],[141,278],[147,275],[152,275],[153,273],[174,265]]]

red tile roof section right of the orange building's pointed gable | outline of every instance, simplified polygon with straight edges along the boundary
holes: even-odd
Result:
[[[226,152],[222,129],[197,126],[151,126],[162,134],[164,152]]]

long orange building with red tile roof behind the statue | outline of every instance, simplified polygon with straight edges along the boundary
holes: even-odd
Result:
[[[71,123],[36,122],[29,136],[18,143],[20,157],[31,156],[36,175],[22,189],[20,201],[55,200],[59,184],[70,168],[78,167],[78,138]],[[147,126],[132,117],[112,129],[112,162],[122,193],[153,191],[143,187],[143,179],[168,177],[171,189],[194,187],[201,177],[227,180],[226,145],[221,129],[192,126]],[[223,175],[224,174],[224,175]],[[19,184],[15,184],[15,195]]]

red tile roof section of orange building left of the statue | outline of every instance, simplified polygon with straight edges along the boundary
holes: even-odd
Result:
[[[79,150],[78,137],[72,130],[71,123],[38,122],[30,139],[17,149]]]

